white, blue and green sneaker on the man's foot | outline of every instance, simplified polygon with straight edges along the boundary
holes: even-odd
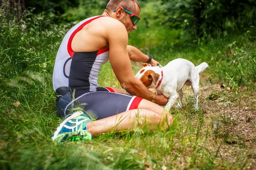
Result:
[[[55,143],[92,140],[92,135],[87,132],[87,122],[92,121],[83,112],[73,113],[57,127],[52,140]]]

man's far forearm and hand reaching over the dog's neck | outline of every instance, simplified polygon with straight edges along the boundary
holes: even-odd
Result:
[[[147,62],[149,57],[145,54],[143,54],[143,52],[141,52],[138,48],[132,46],[132,45],[127,45],[127,51],[128,51],[128,55],[131,59],[131,61],[134,62]],[[152,66],[157,66],[159,65],[159,62],[157,62],[154,59],[151,59],[151,62],[149,62],[149,64],[151,64]]]

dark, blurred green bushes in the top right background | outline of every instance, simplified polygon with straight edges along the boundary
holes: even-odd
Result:
[[[193,39],[223,37],[224,31],[244,31],[256,26],[253,0],[163,0],[160,14],[166,16],[162,24],[182,28]]]

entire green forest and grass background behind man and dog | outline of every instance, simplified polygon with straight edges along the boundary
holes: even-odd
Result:
[[[185,88],[169,130],[54,145],[52,71],[62,38],[108,0],[0,0],[1,169],[256,169],[256,1],[140,0],[129,45],[162,65],[207,62],[200,110]],[[133,64],[134,73],[140,65]],[[100,86],[120,88],[109,63]]]

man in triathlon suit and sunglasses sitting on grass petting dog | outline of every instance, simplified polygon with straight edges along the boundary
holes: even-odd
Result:
[[[127,45],[128,34],[140,20],[137,0],[110,0],[101,16],[90,17],[71,28],[59,47],[53,71],[53,88],[59,116],[68,116],[52,136],[55,142],[91,139],[115,130],[147,126],[167,129],[172,115],[163,95],[155,95],[138,80],[131,61],[159,64],[149,55]],[[98,87],[103,64],[111,67],[122,88]],[[72,99],[73,98],[73,99]],[[159,105],[157,105],[159,104]],[[84,113],[94,113],[91,121]],[[139,122],[139,123],[138,123]]]

